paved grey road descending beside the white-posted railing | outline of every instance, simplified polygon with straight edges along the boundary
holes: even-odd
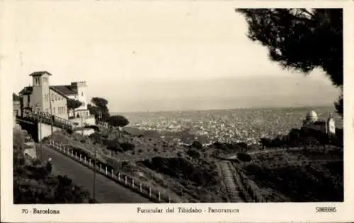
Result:
[[[39,145],[36,145],[39,148]],[[46,145],[42,145],[42,160],[52,158],[55,175],[67,175],[78,186],[93,194],[93,171],[79,162],[62,155]],[[96,174],[96,200],[99,203],[152,203],[147,198],[130,191],[101,174]]]

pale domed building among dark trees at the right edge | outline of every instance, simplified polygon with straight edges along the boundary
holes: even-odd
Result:
[[[302,126],[306,128],[313,128],[327,134],[336,133],[336,121],[334,121],[332,114],[327,120],[319,120],[314,110],[309,111],[305,119],[302,121]]]

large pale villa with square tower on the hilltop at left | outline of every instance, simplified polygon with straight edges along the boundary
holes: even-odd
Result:
[[[22,111],[38,109],[62,119],[87,118],[90,115],[87,109],[85,81],[72,82],[70,85],[50,85],[49,78],[52,74],[47,71],[34,72],[30,76],[33,78],[32,86],[25,87],[19,92]],[[79,100],[82,103],[81,107],[69,111],[67,108],[69,99]]]

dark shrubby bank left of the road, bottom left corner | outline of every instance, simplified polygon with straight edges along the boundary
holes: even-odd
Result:
[[[39,159],[23,155],[25,131],[13,130],[13,203],[93,203],[67,176],[55,176]]]

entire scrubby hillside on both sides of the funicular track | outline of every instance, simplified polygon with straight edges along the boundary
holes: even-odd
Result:
[[[230,192],[219,163],[222,157],[251,151],[256,151],[250,153],[251,162],[235,159],[230,170],[235,176],[240,175],[239,189],[248,193],[244,195],[249,197],[247,201],[254,194],[268,202],[343,200],[343,152],[334,146],[262,152],[261,147],[243,143],[182,146],[127,132],[118,137],[118,132],[108,133],[105,129],[89,137],[57,132],[50,139],[90,157],[96,147],[99,162],[160,191],[169,191],[171,198],[182,202],[227,202]]]

